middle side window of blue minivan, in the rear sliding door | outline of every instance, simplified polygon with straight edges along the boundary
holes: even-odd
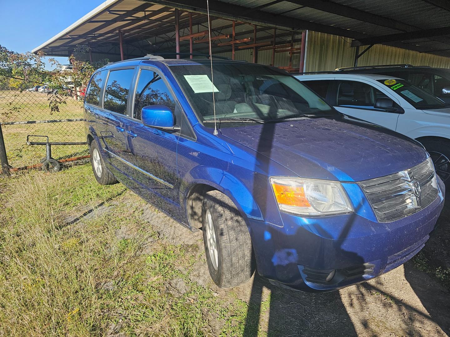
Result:
[[[109,71],[103,102],[104,109],[126,115],[126,102],[134,72],[134,69]]]

